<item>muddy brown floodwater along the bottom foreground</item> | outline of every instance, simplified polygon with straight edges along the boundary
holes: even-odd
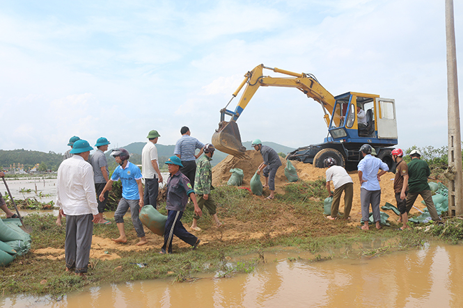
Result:
[[[265,254],[249,274],[157,279],[92,287],[61,300],[18,295],[1,307],[463,307],[462,245],[426,245],[374,259],[310,262],[295,252]],[[143,268],[140,268],[143,270]]]

